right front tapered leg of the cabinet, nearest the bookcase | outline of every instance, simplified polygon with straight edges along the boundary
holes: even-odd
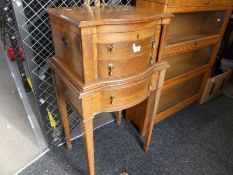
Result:
[[[145,135],[145,143],[143,147],[144,151],[148,151],[149,149],[160,93],[161,90],[153,91],[151,92],[151,95],[149,96],[148,99],[147,112],[146,112],[147,113],[146,117],[148,117],[148,121],[147,121],[147,131]]]

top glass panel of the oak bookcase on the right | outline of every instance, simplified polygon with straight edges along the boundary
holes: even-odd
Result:
[[[167,45],[220,34],[226,12],[176,13],[168,29]]]

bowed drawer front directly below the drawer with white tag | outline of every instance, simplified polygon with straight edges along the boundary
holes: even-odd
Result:
[[[143,72],[155,62],[152,52],[140,56],[119,60],[99,60],[99,78],[120,78],[128,77]]]

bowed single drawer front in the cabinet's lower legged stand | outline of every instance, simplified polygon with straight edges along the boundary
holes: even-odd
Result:
[[[100,93],[102,111],[113,111],[132,107],[149,96],[157,87],[158,76],[154,75],[129,85],[109,87]]]

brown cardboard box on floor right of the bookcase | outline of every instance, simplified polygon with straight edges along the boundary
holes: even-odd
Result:
[[[222,74],[209,78],[206,82],[206,86],[203,91],[200,104],[206,103],[207,101],[220,95],[230,75],[231,75],[231,69],[224,67]]]

